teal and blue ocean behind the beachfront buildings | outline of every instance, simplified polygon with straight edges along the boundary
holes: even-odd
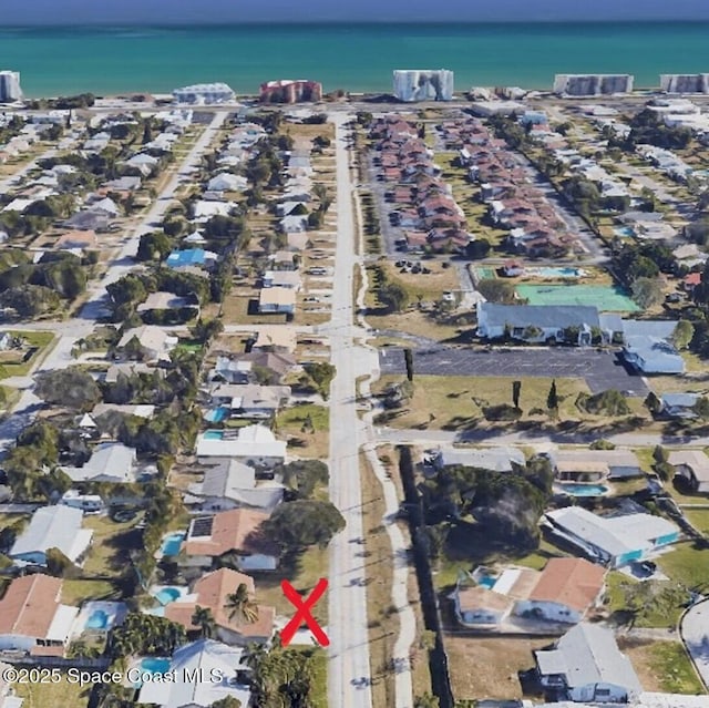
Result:
[[[709,72],[709,22],[242,24],[0,29],[0,69],[28,96],[166,93],[225,81],[312,79],[325,91],[391,90],[393,69],[452,69],[455,90],[548,90],[555,73]]]

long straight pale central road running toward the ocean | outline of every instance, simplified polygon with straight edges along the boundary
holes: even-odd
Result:
[[[347,114],[335,119],[338,237],[332,319],[329,326],[320,328],[330,335],[331,362],[337,367],[330,391],[330,501],[347,522],[345,530],[330,543],[328,705],[371,708],[371,689],[364,683],[371,676],[366,574],[361,558],[356,556],[361,550],[358,541],[362,538],[359,470],[362,430],[357,417],[354,387],[359,370],[352,351],[354,218],[343,125],[348,119]]]

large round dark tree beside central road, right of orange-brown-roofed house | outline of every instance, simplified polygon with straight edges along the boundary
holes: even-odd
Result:
[[[263,523],[264,532],[285,550],[299,551],[306,546],[325,546],[345,529],[345,519],[330,502],[302,500],[276,507]]]

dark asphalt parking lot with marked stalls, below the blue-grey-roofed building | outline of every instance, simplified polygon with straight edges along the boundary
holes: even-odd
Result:
[[[379,352],[382,373],[405,373],[403,350],[387,347]],[[649,389],[641,377],[626,369],[618,355],[595,349],[453,349],[436,347],[413,351],[415,373],[427,376],[582,378],[593,393],[617,389],[626,396],[645,397]]]

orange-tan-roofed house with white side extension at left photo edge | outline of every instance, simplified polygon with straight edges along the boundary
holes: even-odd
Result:
[[[78,607],[61,603],[62,579],[24,575],[0,599],[0,650],[33,657],[64,655]]]

